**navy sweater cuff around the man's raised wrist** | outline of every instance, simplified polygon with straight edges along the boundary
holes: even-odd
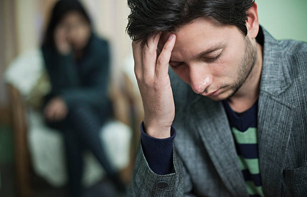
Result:
[[[173,172],[173,142],[176,130],[171,128],[171,137],[158,139],[151,137],[144,132],[144,125],[141,124],[141,145],[146,161],[152,171],[165,175]]]

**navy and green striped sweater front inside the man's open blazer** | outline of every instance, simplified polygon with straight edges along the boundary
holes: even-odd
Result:
[[[251,197],[264,197],[258,158],[258,100],[243,113],[234,112],[227,101],[223,101],[223,105],[234,137],[248,194]]]

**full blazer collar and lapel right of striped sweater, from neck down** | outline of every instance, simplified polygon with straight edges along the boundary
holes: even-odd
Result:
[[[258,100],[259,168],[264,195],[275,197],[280,196],[294,106],[281,96],[291,86],[282,49],[264,29],[263,35],[263,64]]]

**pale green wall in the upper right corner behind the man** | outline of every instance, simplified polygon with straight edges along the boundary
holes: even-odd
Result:
[[[275,39],[307,42],[307,0],[255,0],[259,23]]]

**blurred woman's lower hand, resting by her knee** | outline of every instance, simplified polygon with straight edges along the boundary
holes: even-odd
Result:
[[[67,113],[67,105],[61,97],[51,99],[44,109],[44,115],[48,121],[61,121]]]

